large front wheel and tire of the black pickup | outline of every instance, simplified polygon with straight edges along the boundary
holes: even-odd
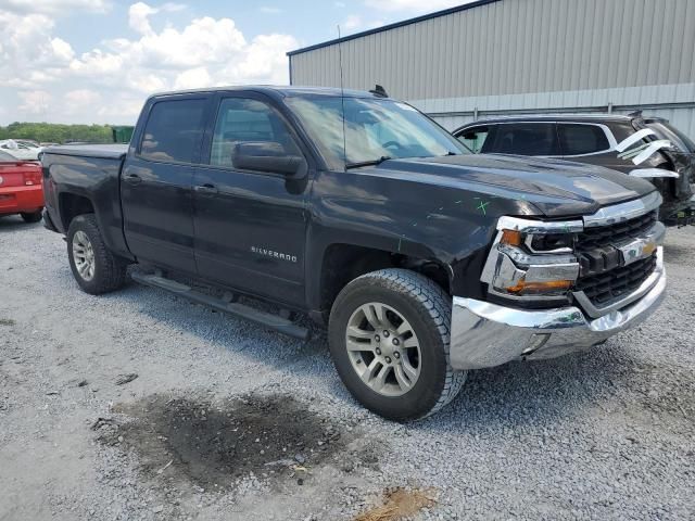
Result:
[[[466,380],[450,363],[451,314],[451,298],[422,275],[390,268],[358,277],[336,298],[328,326],[340,379],[383,418],[410,421],[437,412]],[[380,335],[372,321],[387,325]]]

